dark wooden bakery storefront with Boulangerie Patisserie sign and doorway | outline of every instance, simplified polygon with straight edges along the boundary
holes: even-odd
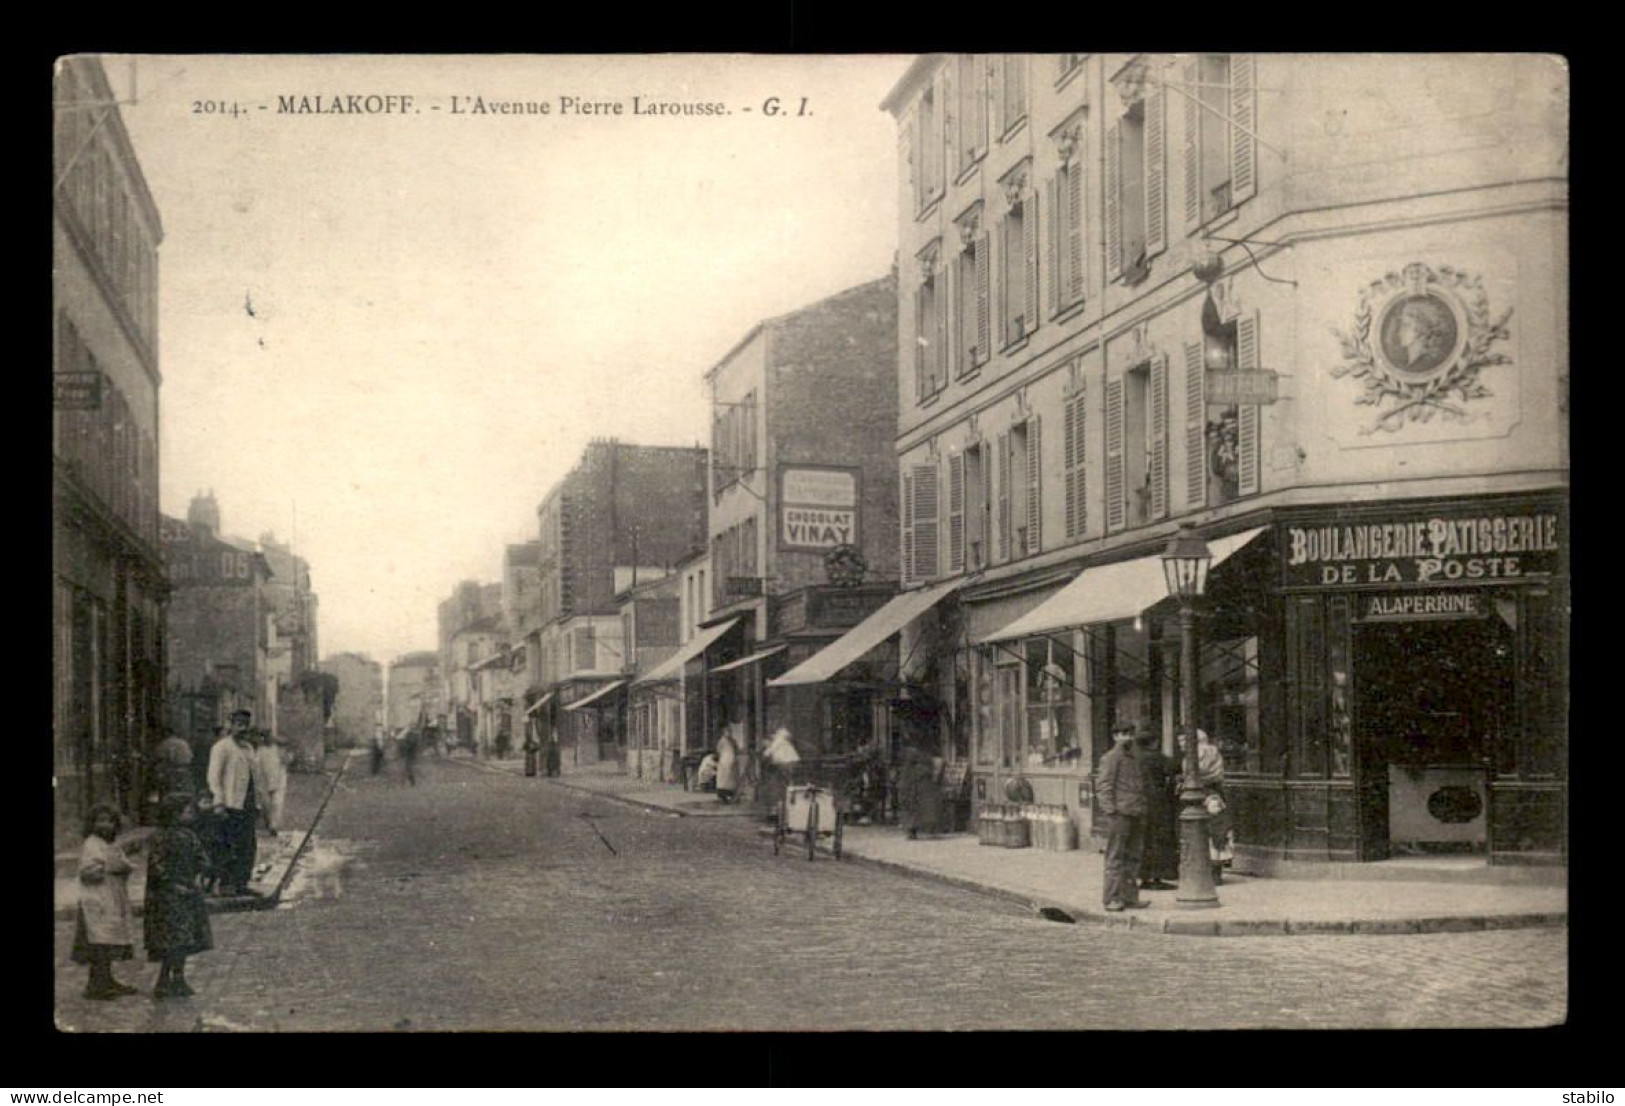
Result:
[[[1565,861],[1566,495],[1303,508],[1274,529],[1279,693],[1251,763],[1227,755],[1238,849]]]

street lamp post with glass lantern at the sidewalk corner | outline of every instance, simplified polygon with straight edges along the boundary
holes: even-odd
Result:
[[[1180,721],[1186,734],[1185,776],[1180,781],[1180,890],[1175,903],[1185,909],[1219,905],[1207,858],[1207,807],[1196,775],[1196,601],[1207,588],[1212,564],[1207,542],[1180,523],[1162,554],[1168,594],[1180,601]]]

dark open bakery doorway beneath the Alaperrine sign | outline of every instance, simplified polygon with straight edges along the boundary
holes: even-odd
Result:
[[[1484,853],[1484,757],[1510,719],[1513,646],[1495,617],[1355,625],[1363,859]]]

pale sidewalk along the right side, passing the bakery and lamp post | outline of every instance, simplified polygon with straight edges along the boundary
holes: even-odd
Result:
[[[505,762],[486,767],[504,771]],[[523,762],[514,762],[523,773]],[[566,773],[546,783],[674,815],[751,817],[744,807],[723,807],[715,796],[699,796],[676,784],[648,783],[601,773]],[[720,809],[718,809],[720,807]],[[827,843],[826,843],[827,848]],[[848,825],[842,854],[897,872],[931,879],[1022,903],[1051,908],[1076,921],[1139,931],[1259,937],[1287,934],[1422,934],[1476,929],[1523,929],[1568,924],[1568,885],[1529,884],[1510,872],[1506,884],[1430,880],[1373,867],[1362,879],[1358,866],[1339,866],[1341,879],[1250,877],[1225,874],[1217,908],[1186,909],[1176,892],[1146,892],[1146,909],[1107,913],[1100,903],[1105,858],[1087,845],[1072,853],[1004,849],[977,843],[972,835],[910,841],[895,827]],[[803,861],[806,862],[806,861]]]

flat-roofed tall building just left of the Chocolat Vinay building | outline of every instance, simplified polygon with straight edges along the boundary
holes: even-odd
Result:
[[[626,667],[616,596],[702,547],[705,450],[593,440],[536,518],[541,617],[526,661],[540,695],[528,716],[575,762],[616,758],[624,702],[609,697],[622,695]]]

